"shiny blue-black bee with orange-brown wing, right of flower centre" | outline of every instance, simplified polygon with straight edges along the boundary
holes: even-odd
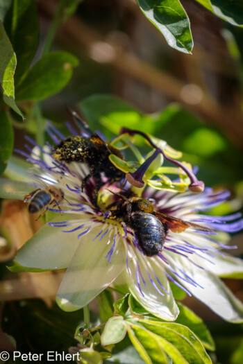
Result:
[[[169,229],[171,232],[181,233],[188,227],[194,227],[194,229],[214,232],[208,227],[161,214],[145,198],[126,198],[119,193],[114,194],[122,198],[124,202],[116,202],[117,208],[112,210],[111,218],[122,218],[124,223],[133,229],[137,244],[147,257],[153,257],[162,251]]]

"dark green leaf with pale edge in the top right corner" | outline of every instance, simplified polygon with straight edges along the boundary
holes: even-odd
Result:
[[[243,3],[241,0],[196,0],[217,17],[235,26],[243,26]]]

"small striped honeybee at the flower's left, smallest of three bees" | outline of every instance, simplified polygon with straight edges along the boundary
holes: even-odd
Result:
[[[28,205],[28,212],[35,214],[35,212],[42,211],[40,216],[42,216],[49,208],[49,205],[57,206],[60,209],[60,202],[64,199],[64,192],[62,189],[56,187],[47,187],[46,189],[35,189],[29,195],[24,196],[24,202],[32,198]],[[40,218],[38,216],[37,220]]]

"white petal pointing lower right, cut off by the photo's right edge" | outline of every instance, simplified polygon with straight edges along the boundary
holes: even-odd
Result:
[[[179,268],[187,273],[200,286],[192,286],[183,279],[178,281],[201,302],[206,304],[217,315],[230,322],[243,322],[243,304],[238,300],[226,285],[214,274],[197,268],[187,258],[180,257],[174,260],[173,267],[179,274]]]

